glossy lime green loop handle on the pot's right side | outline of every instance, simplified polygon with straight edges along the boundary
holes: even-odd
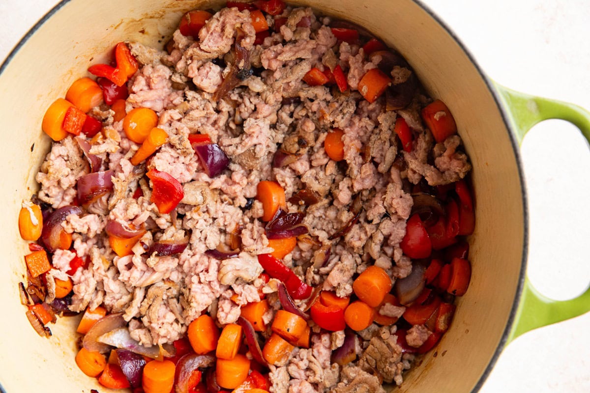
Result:
[[[577,105],[519,93],[495,84],[504,107],[510,111],[512,130],[519,145],[525,134],[543,120],[562,119],[574,124],[590,141],[590,112]],[[520,305],[508,342],[532,329],[582,315],[590,311],[590,287],[570,300],[553,300],[539,293],[525,278]]]

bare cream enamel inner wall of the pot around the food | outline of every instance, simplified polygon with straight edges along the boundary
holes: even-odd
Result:
[[[514,146],[486,81],[455,39],[409,0],[294,1],[367,27],[398,49],[431,95],[447,103],[473,163],[477,225],[471,236],[473,276],[458,302],[452,328],[436,352],[406,376],[399,392],[469,392],[486,372],[512,315],[525,239],[523,190]],[[50,140],[41,131],[45,109],[89,65],[119,41],[162,47],[183,12],[221,2],[178,0],[71,0],[30,34],[0,74],[0,132],[10,146],[3,171],[0,237],[3,305],[0,384],[8,393],[90,392],[96,380],[78,371],[77,318],[51,326],[41,338],[25,317],[18,282],[26,271],[27,244],[18,234],[21,200],[37,190],[35,173]]]

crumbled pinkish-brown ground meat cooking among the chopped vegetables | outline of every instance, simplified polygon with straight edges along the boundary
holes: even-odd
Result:
[[[379,58],[373,57],[373,63],[359,45],[337,41],[328,27],[330,18],[316,16],[310,8],[291,7],[282,16],[288,18],[286,24],[261,45],[254,45],[248,11],[237,8],[215,14],[197,41],[175,31],[169,52],[129,43],[140,70],[129,82],[127,111],[156,111],[158,127],[169,134],[169,142],[147,166],[133,166],[130,158],[139,145],[127,139],[122,121],[113,121],[107,107],[91,111],[106,129],[91,140],[91,153],[102,158],[102,170],[114,171],[114,191],[63,223],[73,236],[75,253],[57,250],[49,276],[64,279],[76,255],[90,260],[87,269],[71,276],[72,311],[104,305],[109,312],[122,312],[134,339],[157,345],[181,338],[203,312],[220,325],[237,321],[240,306],[259,301],[258,289],[264,287],[273,306],[265,318],[271,321],[280,305],[274,280],[265,284],[259,278],[262,267],[256,256],[271,249],[260,219],[261,203],[252,201],[261,180],[276,180],[287,200],[303,189],[320,196],[319,203],[307,207],[287,203],[289,212],[304,211],[309,236],[299,240],[284,263],[309,285],[348,296],[353,276],[371,264],[385,269],[394,281],[411,272],[411,260],[399,247],[412,209],[410,187],[424,181],[430,186],[448,184],[466,176],[471,166],[460,137],[435,144],[419,113],[431,102],[423,93],[397,111],[386,111],[383,98],[365,101],[356,88]],[[303,17],[310,18],[310,27],[297,27]],[[274,19],[268,16],[267,22],[272,29]],[[245,33],[242,46],[251,51],[254,74],[214,100],[230,72],[227,57],[235,27]],[[348,75],[346,93],[310,87],[301,80],[312,67],[335,65]],[[403,81],[410,72],[396,69],[392,79]],[[416,140],[409,153],[402,151],[393,132],[398,116],[407,121]],[[333,128],[344,133],[341,162],[330,160],[324,151],[323,141]],[[209,178],[195,156],[188,135],[196,133],[208,134],[230,158],[228,170],[218,177]],[[296,160],[273,167],[278,149],[296,155]],[[149,169],[165,171],[183,184],[185,197],[171,214],[159,214],[150,202],[150,184],[144,177]],[[72,137],[54,143],[37,174],[38,198],[55,209],[73,203],[77,179],[87,173]],[[143,196],[134,199],[138,188]],[[358,223],[345,236],[329,240],[352,219],[357,197],[363,207]],[[149,229],[133,255],[119,257],[110,248],[104,232],[108,219]],[[228,245],[236,228],[241,228],[240,255],[226,260],[205,255],[208,249]],[[180,255],[146,253],[155,241],[185,236],[189,246]],[[329,260],[315,267],[314,258],[326,247],[331,249]],[[389,316],[403,312],[394,306],[382,311]],[[401,384],[413,355],[402,355],[395,332],[395,326],[374,323],[359,332],[358,361],[341,367],[330,362],[330,354],[342,345],[343,332],[326,333],[313,326],[309,349],[296,348],[285,364],[271,366],[271,392],[383,392],[382,382]],[[419,346],[427,337],[424,326],[414,326],[407,342]]]

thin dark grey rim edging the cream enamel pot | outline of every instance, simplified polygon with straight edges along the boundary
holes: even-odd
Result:
[[[46,21],[48,21],[48,19],[51,18],[51,16],[53,16],[56,12],[60,11],[60,9],[70,1],[71,0],[61,0],[60,2],[58,2],[58,4],[53,6],[53,8],[51,8],[50,11],[48,11],[45,15],[43,15],[41,17],[41,19],[39,19],[39,21],[37,21],[37,23],[35,23],[27,31],[27,33],[21,39],[19,39],[17,45],[15,45],[15,47],[12,48],[12,50],[6,56],[5,60],[2,61],[2,64],[0,65],[0,76],[2,75],[2,73],[4,72],[6,67],[8,67],[8,65],[10,64],[12,58],[14,58],[15,55],[17,55],[18,51],[27,43],[29,38],[31,38],[31,36],[33,34],[35,34],[35,32],[37,32],[37,30],[40,29],[41,26]],[[287,2],[288,1],[289,0],[287,0]],[[520,278],[519,278],[518,285],[516,288],[516,296],[514,297],[514,301],[512,303],[512,309],[510,310],[510,315],[508,317],[508,321],[506,322],[506,327],[504,328],[504,332],[502,333],[502,336],[501,336],[500,342],[496,348],[496,351],[494,351],[494,354],[492,355],[490,362],[487,364],[486,369],[484,370],[483,374],[481,374],[481,377],[477,381],[474,388],[471,390],[471,393],[476,393],[481,389],[481,387],[483,387],[483,384],[484,384],[484,382],[486,382],[487,377],[489,377],[491,370],[496,365],[496,362],[499,359],[500,354],[504,349],[504,346],[506,346],[506,344],[509,341],[508,339],[509,339],[510,331],[512,330],[514,322],[516,322],[516,313],[517,313],[517,310],[520,305],[523,287],[525,285],[526,263],[527,263],[528,247],[529,247],[529,243],[528,243],[528,240],[529,240],[529,209],[528,209],[528,203],[527,203],[527,191],[526,191],[525,177],[524,177],[524,171],[523,171],[522,157],[520,156],[519,144],[518,144],[516,137],[515,137],[516,131],[513,129],[515,126],[513,126],[512,122],[510,121],[510,119],[512,117],[510,116],[507,108],[504,107],[504,105],[502,104],[502,101],[500,98],[500,93],[496,89],[496,87],[494,87],[493,82],[486,75],[486,73],[481,69],[480,65],[475,60],[475,57],[473,56],[473,54],[471,54],[471,52],[466,47],[466,45],[463,44],[463,41],[461,41],[461,39],[457,36],[457,34],[455,34],[455,32],[447,25],[447,23],[445,21],[442,20],[442,18],[440,16],[438,16],[434,11],[432,11],[432,9],[428,5],[424,4],[424,0],[411,0],[411,1],[413,1],[415,4],[420,6],[420,8],[422,8],[422,10],[424,10],[424,12],[426,12],[428,15],[430,15],[430,17],[432,19],[434,19],[434,21],[437,22],[447,32],[447,34],[453,38],[453,40],[455,42],[457,42],[457,45],[459,45],[461,50],[463,50],[464,54],[466,54],[467,58],[469,59],[469,61],[473,65],[473,67],[476,68],[481,79],[486,84],[487,89],[490,91],[491,95],[494,98],[494,102],[496,103],[496,107],[500,111],[500,115],[502,117],[502,121],[504,123],[504,126],[506,126],[506,129],[509,131],[508,137],[510,139],[510,144],[512,145],[514,157],[516,157],[516,166],[517,166],[517,170],[518,170],[518,174],[519,174],[520,189],[522,190],[522,206],[523,206],[523,220],[524,220],[524,223],[523,223],[523,229],[524,229],[523,230],[523,249],[522,249],[522,257],[521,257],[521,261],[520,261]],[[1,381],[0,381],[0,393],[6,393],[5,389],[2,387]]]

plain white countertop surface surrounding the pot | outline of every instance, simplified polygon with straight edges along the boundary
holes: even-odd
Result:
[[[491,78],[590,109],[590,4],[585,0],[424,0]],[[56,0],[0,0],[0,59]],[[545,121],[522,147],[529,193],[529,276],[554,299],[590,282],[590,154],[571,124]],[[590,313],[517,338],[481,393],[590,392]]]

